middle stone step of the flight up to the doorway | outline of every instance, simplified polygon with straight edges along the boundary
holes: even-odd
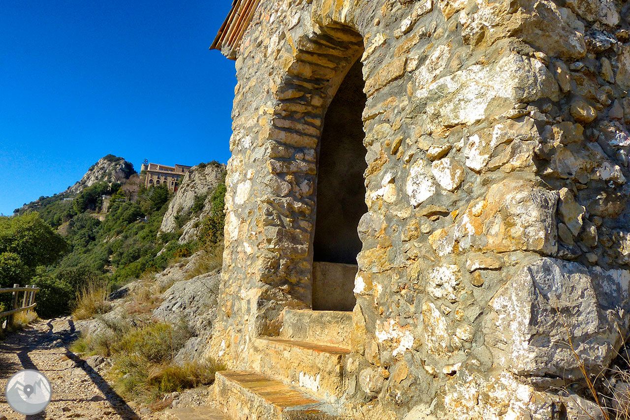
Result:
[[[343,365],[350,350],[277,337],[256,338],[254,367],[328,402],[343,394]]]

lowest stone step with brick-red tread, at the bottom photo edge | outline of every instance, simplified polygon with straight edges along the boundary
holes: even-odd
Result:
[[[260,373],[223,370],[215,375],[217,404],[231,420],[316,419],[329,406]]]

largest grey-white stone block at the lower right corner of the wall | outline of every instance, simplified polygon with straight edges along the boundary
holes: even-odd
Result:
[[[518,375],[579,377],[616,356],[629,321],[627,270],[605,271],[556,258],[524,263],[493,297],[495,360]],[[573,343],[576,356],[566,344]]]

